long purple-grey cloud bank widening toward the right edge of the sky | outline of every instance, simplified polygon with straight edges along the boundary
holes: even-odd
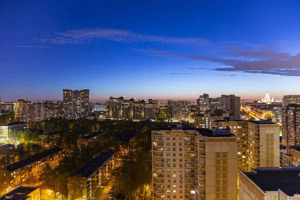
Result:
[[[176,56],[186,59],[209,61],[228,66],[212,69],[215,71],[237,71],[245,73],[300,76],[300,54],[285,55],[284,53],[277,53],[278,56],[268,56],[268,58],[265,59],[258,59],[262,56],[253,56],[251,60],[248,60],[242,59],[241,57],[226,59],[222,57],[209,57],[203,55],[172,53],[153,49],[135,49],[135,51],[155,56]],[[275,55],[276,53],[272,52],[272,54]]]

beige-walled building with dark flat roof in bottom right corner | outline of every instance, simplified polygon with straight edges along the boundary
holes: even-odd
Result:
[[[300,200],[300,167],[258,167],[239,170],[240,200]]]

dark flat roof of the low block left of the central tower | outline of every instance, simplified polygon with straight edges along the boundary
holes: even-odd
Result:
[[[90,162],[81,167],[75,174],[81,174],[82,177],[88,178],[93,172],[100,168],[112,155],[113,151],[101,152],[98,156],[92,159]]]

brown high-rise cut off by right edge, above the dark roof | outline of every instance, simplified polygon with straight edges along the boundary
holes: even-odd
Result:
[[[282,108],[282,145],[300,145],[300,104]]]

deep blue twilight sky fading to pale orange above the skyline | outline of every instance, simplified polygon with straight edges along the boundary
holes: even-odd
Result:
[[[279,100],[300,86],[300,1],[2,0],[2,100]]]

